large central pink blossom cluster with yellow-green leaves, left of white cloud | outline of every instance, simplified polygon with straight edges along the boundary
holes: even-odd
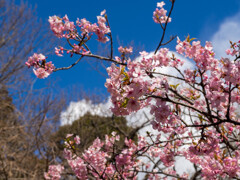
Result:
[[[111,93],[114,107],[112,111],[116,115],[128,115],[131,112],[150,105],[151,95],[163,95],[168,91],[166,78],[151,78],[151,72],[157,67],[182,65],[183,62],[168,55],[168,49],[160,49],[159,53],[147,58],[146,53],[141,52],[139,61],[127,60],[125,66],[112,64],[107,68],[109,79],[105,86]]]

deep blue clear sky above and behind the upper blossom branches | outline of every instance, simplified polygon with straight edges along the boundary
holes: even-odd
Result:
[[[58,15],[62,17],[65,14],[68,15],[71,21],[75,21],[77,18],[86,18],[94,23],[96,22],[96,16],[103,9],[106,9],[114,39],[115,55],[118,55],[117,47],[119,45],[129,45],[131,43],[134,44],[134,47],[144,49],[148,52],[155,50],[161,38],[161,28],[152,20],[152,14],[157,2],[160,1],[28,1],[29,4],[37,6],[37,15],[46,23],[49,16]],[[170,1],[167,0],[165,3],[165,9],[169,10]],[[183,39],[188,34],[201,41],[214,40],[215,44],[221,44],[222,41],[225,42],[226,40],[235,40],[238,37],[240,39],[240,32],[237,29],[238,27],[240,29],[238,22],[240,19],[238,18],[240,17],[239,13],[239,0],[176,0],[166,40],[170,35],[178,35]],[[232,24],[229,24],[229,22],[232,22]],[[226,28],[228,25],[230,29]],[[223,37],[223,35],[225,36]],[[92,39],[94,40],[94,38]],[[167,47],[174,50],[175,45],[176,41],[173,41]],[[98,43],[90,44],[90,47],[93,52],[101,49]],[[216,51],[220,52],[220,49],[216,47]],[[57,67],[60,67],[61,64],[70,64],[76,58],[49,56],[49,60],[52,60]],[[104,68],[99,63],[96,63],[96,61],[88,60],[88,62],[91,65],[87,61],[83,61],[71,70],[56,72],[49,77],[49,80],[56,81],[56,85],[61,88],[78,85],[86,91],[107,93],[104,87],[106,78],[93,69],[93,67],[98,67],[104,73]],[[31,72],[29,71],[29,73]],[[37,87],[44,86],[44,83],[49,80],[38,80]]]

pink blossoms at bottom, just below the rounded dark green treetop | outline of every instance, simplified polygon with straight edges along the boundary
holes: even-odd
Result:
[[[75,144],[79,144],[79,140],[76,141],[75,137],[71,141],[69,138],[71,137],[68,136],[64,150],[65,157],[79,179],[88,179],[89,176],[95,179],[136,179],[134,169],[138,167],[139,160],[134,157],[137,146],[132,140],[126,139],[127,148],[118,154],[114,147],[120,136],[113,132],[111,137],[106,135],[105,142],[97,138],[84,153],[78,155]]]

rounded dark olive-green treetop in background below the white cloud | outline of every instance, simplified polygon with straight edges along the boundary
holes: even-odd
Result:
[[[64,148],[64,139],[67,134],[79,135],[81,139],[80,151],[88,148],[98,137],[104,140],[105,135],[110,135],[113,131],[120,135],[120,145],[123,145],[125,137],[132,136],[134,128],[127,126],[124,117],[100,117],[90,113],[74,121],[71,125],[65,125],[52,136],[60,151]],[[133,135],[136,141],[136,134]]]

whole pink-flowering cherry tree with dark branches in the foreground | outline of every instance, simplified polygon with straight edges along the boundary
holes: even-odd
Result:
[[[36,76],[46,78],[53,70],[70,69],[85,56],[112,62],[105,83],[111,94],[112,112],[126,116],[148,108],[152,115],[149,124],[157,132],[156,136],[151,132],[146,137],[139,136],[136,142],[126,135],[122,146],[118,145],[120,137],[112,133],[105,136],[105,141],[95,139],[82,153],[77,153],[80,138],[68,135],[65,158],[77,178],[137,179],[140,173],[148,179],[240,177],[240,42],[230,42],[231,49],[226,50],[230,58],[216,59],[211,42],[203,45],[189,35],[184,40],[177,38],[176,51],[193,64],[191,68],[184,67],[182,56],[161,48],[174,39],[163,42],[175,1],[171,2],[169,15],[163,8],[164,2],[157,3],[153,13],[154,21],[163,30],[158,48],[154,53],[140,52],[135,60],[129,56],[132,47],[120,46],[120,55],[113,55],[106,11],[97,16],[94,24],[85,18],[78,19],[76,26],[67,16],[49,18],[54,34],[66,38],[70,46],[55,48],[56,55],[62,56],[66,51],[71,57],[80,58],[69,67],[56,69],[44,55],[34,54],[26,65],[34,68]],[[107,57],[93,54],[88,47],[93,34],[100,42],[110,41]],[[163,71],[164,68],[169,71]],[[194,174],[179,175],[175,164],[179,157],[194,164]]]

